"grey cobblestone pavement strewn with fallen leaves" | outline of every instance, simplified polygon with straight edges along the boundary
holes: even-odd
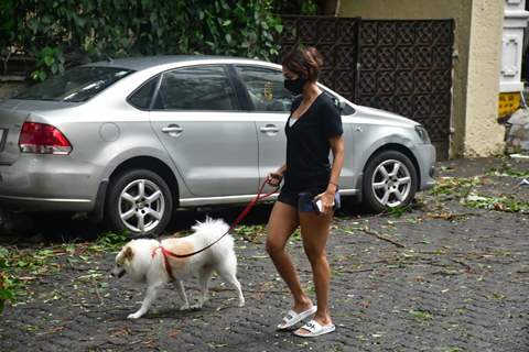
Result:
[[[529,351],[529,187],[517,186],[528,166],[441,163],[440,185],[411,210],[339,213],[328,243],[337,330],[313,340],[274,330],[291,302],[263,250],[269,206],[236,235],[246,307],[214,279],[202,310],[180,311],[169,287],[137,321],[126,317],[143,290],[108,275],[114,253],[89,250],[94,241],[14,248],[9,237],[3,245],[17,250],[21,268],[12,273],[26,294],[0,316],[0,351]],[[298,237],[289,249],[314,297]],[[24,253],[51,260],[25,270]],[[195,282],[187,292],[196,294]]]

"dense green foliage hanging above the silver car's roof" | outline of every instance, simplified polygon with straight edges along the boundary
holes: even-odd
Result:
[[[273,59],[273,0],[2,0],[0,55],[36,58],[34,79],[106,57],[218,54]]]

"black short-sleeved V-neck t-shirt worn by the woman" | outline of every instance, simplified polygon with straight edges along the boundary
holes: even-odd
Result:
[[[291,114],[284,125],[287,134],[287,172],[284,189],[310,191],[325,188],[331,176],[328,139],[342,135],[342,117],[333,99],[322,92],[292,127],[290,119],[303,97],[292,102]]]

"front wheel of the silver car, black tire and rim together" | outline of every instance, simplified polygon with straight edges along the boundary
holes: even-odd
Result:
[[[417,169],[410,158],[398,151],[382,151],[366,165],[363,202],[376,212],[404,207],[415,196],[417,188]]]

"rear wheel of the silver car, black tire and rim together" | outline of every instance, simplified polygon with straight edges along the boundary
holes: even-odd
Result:
[[[163,232],[173,213],[168,183],[149,169],[128,169],[111,178],[105,213],[112,230],[128,231],[131,238]]]

